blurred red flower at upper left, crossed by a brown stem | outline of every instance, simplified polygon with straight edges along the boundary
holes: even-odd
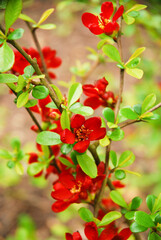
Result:
[[[35,50],[34,48],[23,48],[24,51],[31,56],[31,58],[36,58],[37,63],[41,69],[41,71],[43,72],[43,66],[42,66],[42,62],[41,62],[41,58],[40,55],[38,53],[37,50]],[[47,69],[52,69],[52,68],[57,68],[61,65],[61,58],[56,57],[56,51],[52,50],[50,47],[44,47],[42,49],[42,53],[44,56],[44,60],[45,60],[45,64]],[[12,67],[12,72],[16,75],[19,74],[23,74],[24,73],[24,68],[27,67],[29,64],[29,62],[21,55],[20,52],[18,52],[17,50],[14,51],[15,54],[15,63]],[[52,71],[48,71],[49,75],[51,78],[56,78],[56,75],[52,72]]]

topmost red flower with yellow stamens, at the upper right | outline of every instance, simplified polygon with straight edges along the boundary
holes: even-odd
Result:
[[[116,22],[124,12],[124,7],[121,5],[114,14],[112,20],[110,17],[114,12],[112,2],[104,2],[101,6],[101,13],[99,16],[95,16],[92,13],[84,13],[82,15],[82,22],[85,27],[95,34],[99,35],[105,33],[111,35],[119,30],[119,24]]]

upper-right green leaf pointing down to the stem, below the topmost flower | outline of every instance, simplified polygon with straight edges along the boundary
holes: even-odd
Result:
[[[113,45],[105,45],[102,50],[109,58],[123,65],[120,53]]]

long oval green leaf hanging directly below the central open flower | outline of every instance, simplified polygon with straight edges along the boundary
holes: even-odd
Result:
[[[91,178],[97,177],[97,167],[92,158],[87,154],[77,155],[77,161],[83,172]]]

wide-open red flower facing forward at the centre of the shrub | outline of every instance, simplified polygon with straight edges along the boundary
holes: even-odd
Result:
[[[74,150],[83,153],[87,150],[90,141],[99,140],[106,135],[106,128],[101,128],[101,119],[92,117],[85,120],[80,114],[75,114],[71,118],[71,128],[61,132],[63,143],[74,144]]]

